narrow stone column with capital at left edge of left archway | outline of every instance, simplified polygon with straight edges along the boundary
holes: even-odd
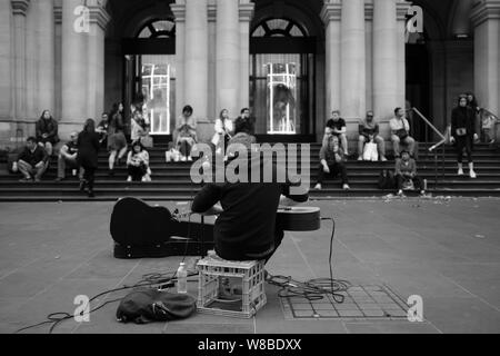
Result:
[[[106,1],[91,0],[90,33],[88,36],[88,116],[99,120],[104,110],[104,36],[110,20],[106,11]]]

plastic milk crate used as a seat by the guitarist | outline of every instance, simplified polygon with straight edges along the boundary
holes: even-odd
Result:
[[[207,257],[198,270],[199,313],[251,318],[267,303],[264,261]]]

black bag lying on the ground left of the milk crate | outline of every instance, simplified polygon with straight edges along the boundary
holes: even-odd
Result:
[[[137,288],[118,306],[120,323],[148,324],[186,319],[197,309],[197,300],[190,295],[160,291],[153,288]]]

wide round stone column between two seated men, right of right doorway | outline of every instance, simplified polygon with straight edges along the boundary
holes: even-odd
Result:
[[[342,2],[341,111],[348,122],[358,123],[366,111],[364,0]]]

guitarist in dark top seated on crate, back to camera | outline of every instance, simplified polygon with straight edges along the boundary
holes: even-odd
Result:
[[[240,144],[250,152],[251,141],[251,138],[240,135],[240,140],[232,140],[230,145]],[[252,177],[251,172],[259,169],[260,182],[251,179],[252,182],[209,184],[197,195],[192,204],[193,212],[219,215],[213,229],[216,253],[227,260],[268,261],[284,236],[283,230],[276,225],[280,202],[292,205],[309,199],[308,191],[296,187],[297,184],[292,184],[290,179],[287,179],[287,182],[278,181],[277,177],[283,177],[280,174],[284,172],[276,165],[272,165],[272,182],[262,182],[266,165],[261,157],[257,156],[238,156],[234,159],[248,164],[247,177]],[[294,191],[296,189],[298,191]],[[216,206],[218,202],[220,207]]]

